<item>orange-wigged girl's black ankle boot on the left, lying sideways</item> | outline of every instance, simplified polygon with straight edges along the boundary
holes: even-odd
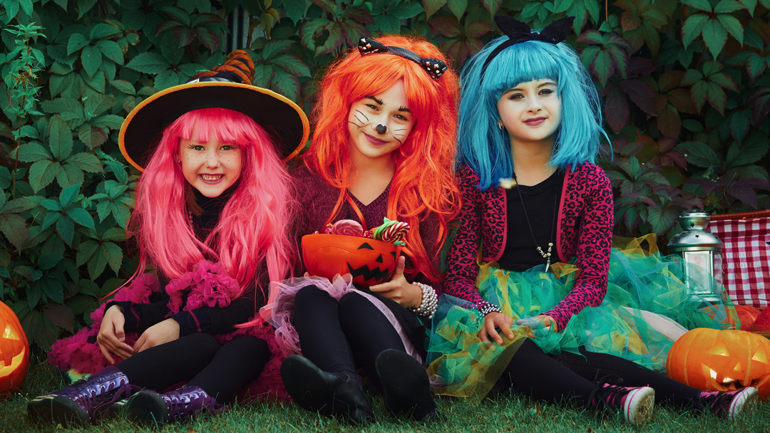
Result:
[[[297,405],[351,424],[374,420],[374,411],[358,381],[321,371],[309,359],[290,355],[281,364],[281,379]]]

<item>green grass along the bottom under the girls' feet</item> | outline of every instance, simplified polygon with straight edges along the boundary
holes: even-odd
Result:
[[[60,426],[32,424],[27,418],[26,403],[29,399],[64,385],[59,373],[47,364],[32,365],[22,389],[15,395],[0,401],[0,431],[49,432],[62,431]],[[370,395],[377,422],[364,428],[338,425],[335,421],[304,411],[293,405],[266,403],[259,405],[235,405],[229,412],[199,420],[168,425],[164,428],[139,428],[126,420],[106,422],[89,428],[72,428],[69,431],[179,431],[197,433],[222,432],[306,432],[306,431],[367,431],[385,433],[397,431],[426,431],[436,433],[492,433],[492,432],[573,432],[598,433],[600,431],[639,432],[755,432],[770,433],[770,405],[760,405],[755,411],[741,415],[733,423],[713,415],[691,415],[681,410],[655,408],[652,421],[641,427],[626,424],[619,415],[609,414],[601,418],[591,412],[581,413],[575,406],[543,405],[529,398],[511,395],[493,395],[480,405],[470,405],[455,398],[437,398],[444,417],[430,425],[393,417],[384,408],[379,395]]]

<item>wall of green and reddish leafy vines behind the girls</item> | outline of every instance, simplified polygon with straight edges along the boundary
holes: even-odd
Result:
[[[681,211],[768,208],[770,0],[4,0],[0,5],[0,299],[48,348],[136,268],[138,173],[122,119],[223,62],[224,18],[249,12],[254,84],[307,112],[315,78],[361,35],[423,35],[460,65],[492,17],[577,17],[567,40],[604,96],[618,235],[666,234]]]

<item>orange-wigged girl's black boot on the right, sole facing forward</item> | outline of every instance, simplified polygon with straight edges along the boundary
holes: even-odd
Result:
[[[389,411],[412,415],[420,422],[439,417],[427,372],[417,359],[407,352],[387,349],[377,355],[374,367],[383,384],[385,407]]]

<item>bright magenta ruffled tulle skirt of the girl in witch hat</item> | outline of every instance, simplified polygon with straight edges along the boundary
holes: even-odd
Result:
[[[235,287],[233,286],[234,284]],[[181,307],[180,298],[183,295],[187,295],[189,305],[185,305],[182,309],[187,311],[201,306],[224,307],[229,305],[229,295],[237,288],[236,286],[235,281],[226,276],[224,268],[218,264],[202,261],[184,278],[173,280],[166,286],[166,292],[170,296],[169,308],[171,308],[172,313],[179,311]],[[147,304],[149,303],[150,295],[159,290],[160,284],[155,275],[139,275],[139,277],[134,278],[131,285],[121,288],[115,294],[113,300]],[[194,301],[190,303],[190,300]],[[93,375],[110,365],[109,361],[102,354],[101,349],[99,349],[99,345],[95,342],[89,342],[89,340],[93,341],[96,335],[99,334],[99,327],[102,325],[102,318],[104,318],[105,306],[106,303],[100,305],[91,314],[92,323],[90,326],[75,332],[75,335],[72,335],[72,337],[56,341],[51,346],[51,351],[49,352],[50,364],[55,365],[62,371],[73,371],[75,376]],[[281,362],[283,358],[286,358],[286,355],[278,344],[272,325],[269,325],[269,323],[266,323],[257,315],[252,326],[238,328],[229,334],[215,335],[215,337],[220,343],[224,344],[234,338],[247,335],[266,341],[273,356],[270,357],[259,378],[246,384],[239,391],[239,400],[277,399],[290,401],[289,393],[283,387],[280,375]],[[126,344],[134,345],[138,338],[139,335],[136,332],[127,332]],[[115,357],[115,361],[120,362],[121,360]],[[176,388],[176,385],[174,388]]]

